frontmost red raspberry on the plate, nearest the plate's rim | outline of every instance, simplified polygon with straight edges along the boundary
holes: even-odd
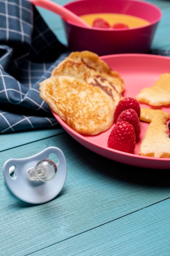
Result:
[[[108,147],[116,150],[134,154],[135,130],[127,121],[118,122],[108,137]]]

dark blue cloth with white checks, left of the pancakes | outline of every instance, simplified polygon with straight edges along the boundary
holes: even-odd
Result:
[[[40,81],[69,52],[27,0],[0,0],[0,133],[58,127]]]

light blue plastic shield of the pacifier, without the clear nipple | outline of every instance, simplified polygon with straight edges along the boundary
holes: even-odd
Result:
[[[50,154],[57,156],[57,173],[49,182],[31,181],[27,170],[33,168],[41,159],[49,159]],[[10,168],[15,167],[15,176],[11,177]],[[60,148],[49,147],[31,157],[9,159],[3,165],[4,180],[9,190],[20,200],[31,204],[42,204],[55,198],[66,181],[67,165]]]

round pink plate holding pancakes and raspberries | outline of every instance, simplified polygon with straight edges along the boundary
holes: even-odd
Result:
[[[142,88],[154,85],[161,74],[170,72],[169,57],[149,54],[115,54],[100,58],[106,61],[112,70],[116,70],[121,74],[121,77],[125,81],[124,97],[135,98]],[[140,104],[140,106],[149,108],[145,104]],[[170,113],[170,108],[168,107],[161,109]],[[54,112],[53,115],[71,137],[99,155],[133,166],[156,169],[170,168],[169,158],[144,157],[139,155],[139,145],[149,125],[147,123],[141,122],[141,135],[139,142],[136,144],[135,154],[129,154],[107,147],[108,135],[114,125],[99,135],[83,136],[68,127]]]

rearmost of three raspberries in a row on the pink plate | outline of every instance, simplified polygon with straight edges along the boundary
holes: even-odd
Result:
[[[126,110],[128,108],[132,108],[137,112],[137,116],[140,117],[140,106],[139,103],[137,102],[137,100],[135,98],[131,98],[131,97],[126,97],[124,99],[122,99],[121,101],[119,101],[119,103],[117,104],[117,107],[115,109],[115,114],[114,114],[114,122],[117,122],[117,119],[120,115],[120,113],[123,110]]]

